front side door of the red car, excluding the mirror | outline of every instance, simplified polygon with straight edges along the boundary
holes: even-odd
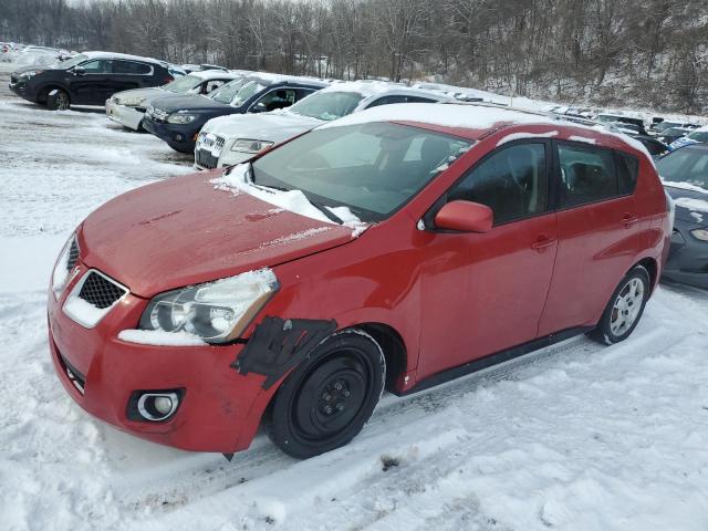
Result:
[[[447,191],[489,206],[490,232],[421,235],[419,379],[537,337],[558,242],[549,153],[548,140],[504,144]]]

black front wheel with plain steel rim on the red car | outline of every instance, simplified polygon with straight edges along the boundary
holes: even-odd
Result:
[[[275,446],[299,459],[340,448],[369,419],[385,382],[378,343],[360,331],[337,332],[285,378],[263,426]]]

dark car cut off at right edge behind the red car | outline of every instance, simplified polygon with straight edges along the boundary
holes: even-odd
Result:
[[[676,149],[656,166],[676,202],[664,278],[708,289],[708,145]]]

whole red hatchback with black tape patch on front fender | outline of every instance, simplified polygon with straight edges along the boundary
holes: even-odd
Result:
[[[626,339],[670,217],[628,137],[476,105],[332,122],[251,164],[108,201],[49,295],[87,412],[188,450],[295,457],[405,395],[589,333]]]

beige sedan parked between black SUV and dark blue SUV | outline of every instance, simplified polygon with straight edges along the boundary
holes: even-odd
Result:
[[[143,128],[142,122],[145,117],[145,110],[157,97],[170,94],[206,95],[226,83],[241,80],[246,75],[248,75],[246,72],[207,70],[192,72],[163,86],[118,92],[106,100],[106,115],[124,127],[139,131]]]

